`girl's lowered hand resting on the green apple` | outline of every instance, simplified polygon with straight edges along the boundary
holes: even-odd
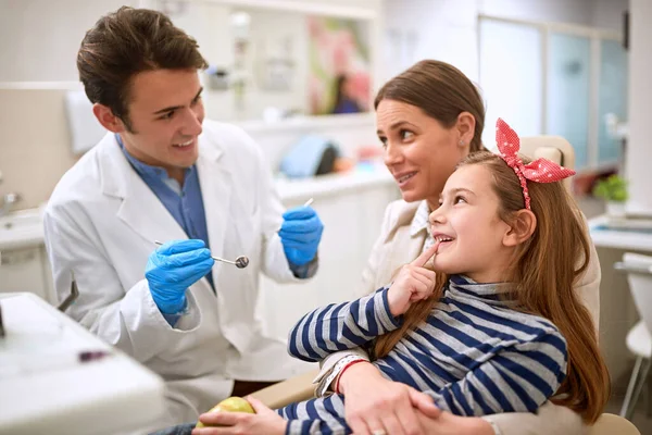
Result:
[[[263,405],[262,401],[248,396],[247,401],[252,406],[255,414],[244,412],[209,412],[199,415],[199,420],[206,425],[221,425],[222,427],[201,427],[192,430],[192,435],[284,435],[287,422],[283,417]]]

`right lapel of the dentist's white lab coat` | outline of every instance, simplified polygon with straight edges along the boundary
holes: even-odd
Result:
[[[234,189],[233,174],[230,169],[220,161],[222,150],[208,139],[201,139],[200,137],[197,171],[206,214],[209,244],[213,256],[223,257]]]

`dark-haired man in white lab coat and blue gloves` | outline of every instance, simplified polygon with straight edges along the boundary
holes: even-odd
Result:
[[[203,120],[205,66],[159,12],[100,18],[77,67],[109,133],[62,177],[45,215],[59,297],[73,275],[80,293],[67,313],[166,381],[161,427],[293,374],[285,344],[254,315],[259,273],[311,277],[323,231],[310,207],[284,213],[246,133]]]

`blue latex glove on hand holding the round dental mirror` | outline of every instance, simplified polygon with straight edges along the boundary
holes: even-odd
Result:
[[[159,310],[163,314],[181,311],[186,289],[209,273],[214,263],[203,240],[172,240],[153,251],[145,277]]]

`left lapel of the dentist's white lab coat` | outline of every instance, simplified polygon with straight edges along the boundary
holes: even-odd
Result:
[[[155,248],[154,240],[186,239],[188,236],[131,167],[113,134],[104,137],[99,159],[104,195],[122,198],[117,216]]]

